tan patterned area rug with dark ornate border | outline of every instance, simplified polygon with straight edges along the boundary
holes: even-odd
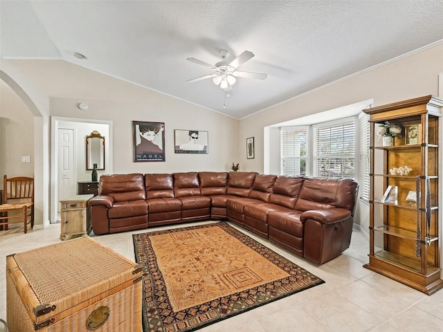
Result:
[[[195,331],[323,284],[228,223],[134,234],[143,331]]]

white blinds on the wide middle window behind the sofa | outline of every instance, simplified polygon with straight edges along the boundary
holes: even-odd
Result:
[[[354,177],[355,123],[314,129],[314,176]]]

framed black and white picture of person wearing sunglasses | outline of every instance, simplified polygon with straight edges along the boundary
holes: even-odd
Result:
[[[207,154],[208,131],[175,129],[174,147],[176,154]]]

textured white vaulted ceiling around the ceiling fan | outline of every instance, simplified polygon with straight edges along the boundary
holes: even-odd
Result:
[[[0,1],[0,15],[5,59],[64,60],[234,118],[443,40],[440,0]],[[212,73],[187,57],[215,64],[223,49],[253,52],[239,70],[267,79],[239,77],[229,98],[210,79],[186,82]],[[78,85],[64,97],[84,97]]]

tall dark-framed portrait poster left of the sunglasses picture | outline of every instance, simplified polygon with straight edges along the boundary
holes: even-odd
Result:
[[[165,123],[132,121],[134,162],[165,161]]]

